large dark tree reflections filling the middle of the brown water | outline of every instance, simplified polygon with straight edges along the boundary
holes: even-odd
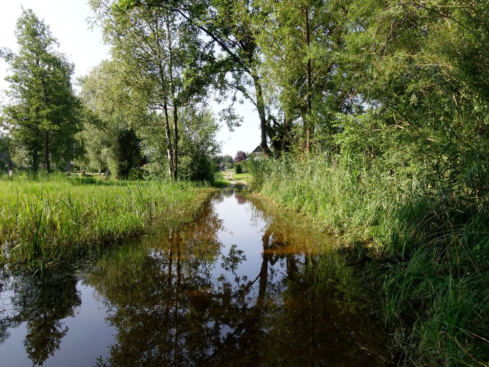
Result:
[[[264,227],[256,277],[240,275],[246,254],[220,242],[212,205],[147,247],[111,252],[88,275],[118,330],[99,366],[381,365],[351,269],[318,252],[327,237],[244,193],[221,190],[213,203],[234,195],[248,203],[255,229]]]

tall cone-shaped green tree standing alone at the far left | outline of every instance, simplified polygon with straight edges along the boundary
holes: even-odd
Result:
[[[73,155],[73,135],[78,130],[78,100],[71,89],[73,65],[56,52],[58,45],[49,27],[31,9],[23,10],[15,31],[19,53],[7,53],[13,71],[13,103],[4,110],[13,143],[28,152],[37,171],[44,153],[44,168],[62,164]]]

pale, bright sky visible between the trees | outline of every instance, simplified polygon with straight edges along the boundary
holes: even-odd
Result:
[[[91,15],[87,0],[6,0],[2,1],[0,11],[0,47],[17,50],[14,36],[15,23],[22,9],[31,8],[36,15],[49,24],[52,34],[60,43],[59,51],[65,53],[75,64],[75,75],[86,74],[89,69],[103,59],[110,58],[110,48],[103,44],[99,29],[90,29],[87,18]],[[8,66],[0,61],[0,90],[8,88],[3,80]],[[3,99],[3,93],[1,95]],[[227,103],[229,104],[229,103]],[[220,107],[211,103],[214,112]],[[236,108],[244,117],[244,123],[229,132],[222,126],[218,139],[222,141],[222,153],[235,156],[238,150],[252,151],[260,143],[258,114],[254,107],[245,102]]]

